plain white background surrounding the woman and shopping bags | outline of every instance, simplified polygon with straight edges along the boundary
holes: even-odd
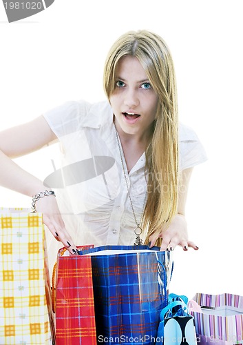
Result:
[[[64,101],[105,99],[103,64],[123,32],[145,28],[167,41],[180,121],[196,130],[209,158],[194,168],[187,202],[190,238],[200,250],[173,253],[170,291],[189,298],[243,295],[241,3],[56,0],[16,23],[7,22],[0,3],[1,130]],[[53,155],[44,149],[17,161],[44,178]],[[0,188],[0,206],[30,207],[30,201]]]

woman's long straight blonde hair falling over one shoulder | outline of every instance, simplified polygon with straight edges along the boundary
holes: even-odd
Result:
[[[116,67],[126,55],[137,57],[158,95],[154,134],[146,150],[147,203],[142,226],[145,243],[160,233],[177,213],[178,206],[178,106],[173,61],[165,41],[153,32],[123,34],[105,61],[103,84],[109,99],[116,87]],[[160,245],[158,239],[157,244]]]

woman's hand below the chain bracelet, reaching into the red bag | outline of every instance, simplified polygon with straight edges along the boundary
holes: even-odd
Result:
[[[78,255],[78,249],[65,228],[56,198],[50,195],[39,199],[36,201],[36,211],[43,214],[43,223],[56,240],[62,242],[72,255]]]

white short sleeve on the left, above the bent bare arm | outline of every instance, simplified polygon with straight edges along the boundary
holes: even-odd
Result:
[[[91,105],[85,101],[68,101],[43,114],[56,137],[63,137],[81,128]]]

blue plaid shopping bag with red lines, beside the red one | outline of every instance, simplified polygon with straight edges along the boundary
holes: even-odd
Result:
[[[171,252],[148,246],[101,246],[91,257],[98,343],[154,344],[167,304]]]

